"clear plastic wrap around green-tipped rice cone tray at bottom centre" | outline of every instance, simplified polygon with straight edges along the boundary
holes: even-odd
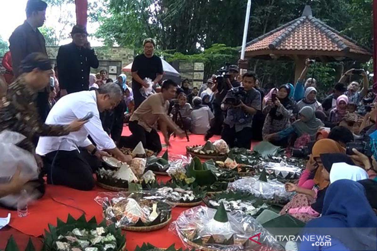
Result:
[[[266,238],[271,234],[253,217],[239,212],[228,213],[228,222],[213,220],[216,210],[208,207],[194,207],[183,211],[169,230],[177,234],[186,248],[205,248],[213,251],[264,250],[283,251],[277,242]],[[249,240],[250,237],[261,244]],[[207,243],[213,237],[215,243]],[[224,244],[223,240],[233,239],[233,244]]]

